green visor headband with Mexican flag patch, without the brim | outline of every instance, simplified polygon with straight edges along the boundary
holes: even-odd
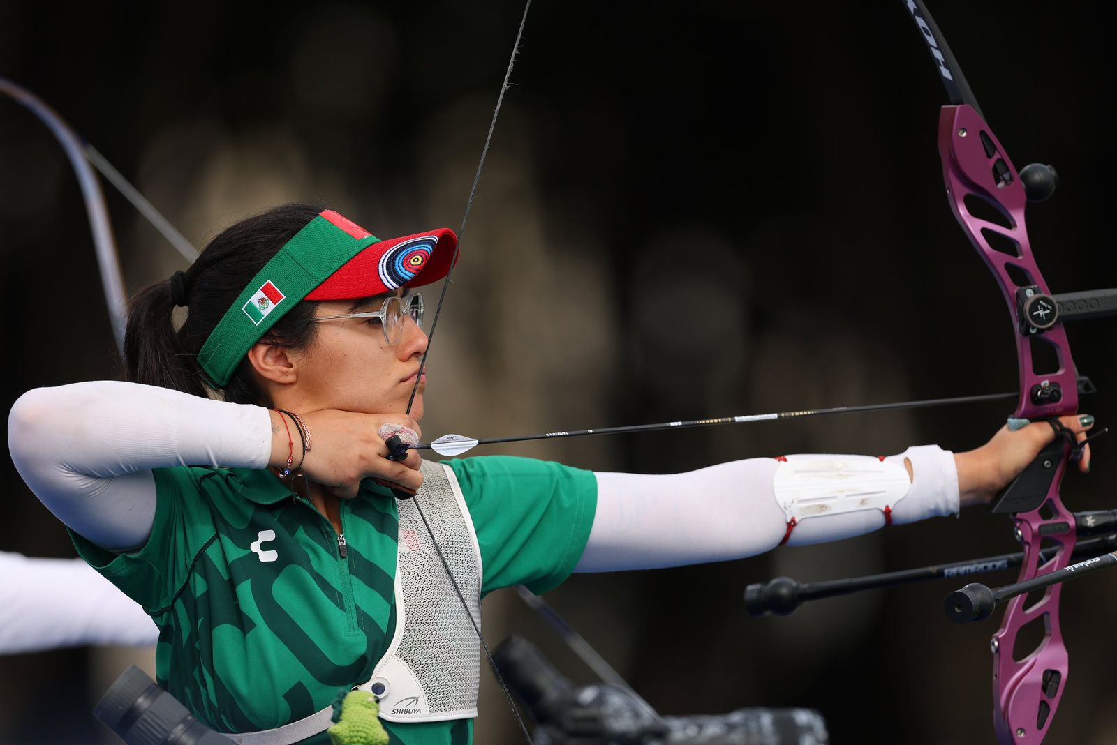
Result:
[[[248,350],[288,310],[345,262],[380,239],[354,238],[318,215],[264,265],[213,329],[198,364],[210,380],[226,386]]]

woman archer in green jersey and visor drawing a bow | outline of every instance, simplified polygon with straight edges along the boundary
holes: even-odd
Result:
[[[393,743],[470,742],[485,593],[955,514],[1058,428],[674,475],[395,462],[385,441],[414,444],[423,414],[416,288],[446,275],[455,246],[445,229],[380,241],[336,212],[276,207],[133,299],[128,383],[36,389],[12,408],[28,485],[159,627],[160,684],[237,742],[325,743],[352,687],[380,698]],[[1078,439],[1091,424],[1061,420]]]

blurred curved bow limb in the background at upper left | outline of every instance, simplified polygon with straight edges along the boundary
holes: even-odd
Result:
[[[93,231],[93,244],[97,251],[97,267],[101,269],[101,283],[105,291],[105,303],[108,306],[108,318],[113,325],[113,337],[116,349],[124,356],[124,327],[126,322],[126,306],[124,296],[124,278],[121,272],[121,258],[113,236],[113,226],[108,221],[108,209],[105,206],[105,195],[101,191],[97,175],[86,159],[86,145],[82,142],[66,122],[39,99],[35,94],[7,78],[0,78],[0,93],[4,93],[22,104],[47,125],[58,139],[66,157],[77,175],[85,200],[85,211],[89,215],[89,229]]]

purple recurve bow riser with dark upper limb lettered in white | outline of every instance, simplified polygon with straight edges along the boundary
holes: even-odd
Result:
[[[922,0],[905,6],[927,42],[952,104],[938,120],[938,149],[951,207],[981,254],[1009,306],[1016,342],[1020,399],[1014,416],[1048,419],[1078,410],[1078,385],[1070,346],[1043,280],[1024,222],[1029,201],[1020,173],[985,123],[961,68]],[[1060,496],[1071,445],[1057,439],[994,505],[1008,513],[1024,549],[1019,581],[1063,569],[1075,549],[1073,515]],[[1041,543],[1056,555],[1042,561]],[[1041,742],[1062,697],[1068,655],[1059,626],[1061,584],[1028,604],[1014,598],[993,636],[994,726],[1002,744]],[[1039,645],[1018,659],[1021,630],[1042,623]]]

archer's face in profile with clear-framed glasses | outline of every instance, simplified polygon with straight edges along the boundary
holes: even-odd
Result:
[[[385,296],[354,306],[350,300],[318,303],[315,316],[380,310]],[[416,384],[427,335],[404,317],[399,342],[390,345],[379,319],[346,318],[317,323],[314,342],[299,360],[299,398],[306,409],[333,408],[364,414],[403,414]],[[411,416],[422,418],[419,384]]]

